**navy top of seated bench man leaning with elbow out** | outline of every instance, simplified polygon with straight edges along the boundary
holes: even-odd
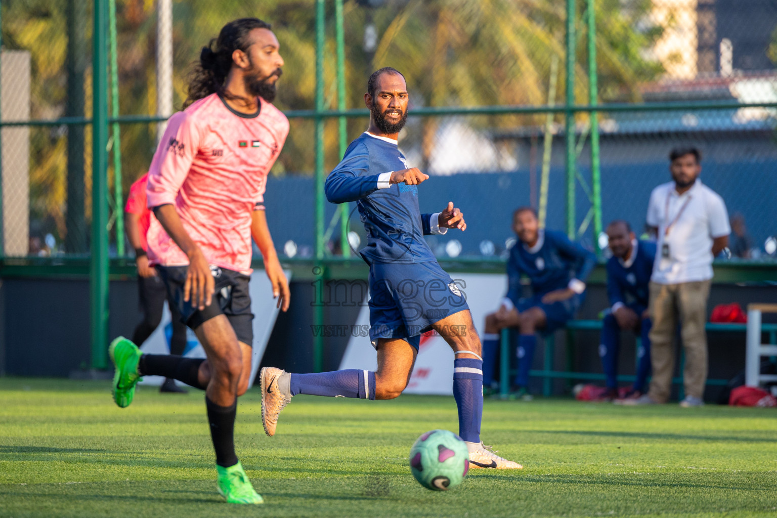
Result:
[[[585,282],[596,265],[596,256],[559,231],[540,231],[533,249],[520,240],[507,259],[507,297],[517,305],[521,298],[521,273],[528,276],[535,296],[568,287],[576,278]]]

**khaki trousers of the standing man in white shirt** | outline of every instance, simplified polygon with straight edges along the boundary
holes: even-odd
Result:
[[[707,381],[707,297],[712,280],[692,283],[650,283],[650,359],[653,378],[648,395],[654,402],[669,399],[674,374],[674,347],[672,342],[681,325],[682,345],[685,347],[683,383],[685,395],[702,398]]]

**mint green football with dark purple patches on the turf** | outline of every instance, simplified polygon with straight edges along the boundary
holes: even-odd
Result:
[[[469,471],[467,444],[448,430],[424,433],[410,449],[410,471],[427,489],[455,488]]]

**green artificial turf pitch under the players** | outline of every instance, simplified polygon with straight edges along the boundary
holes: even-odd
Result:
[[[777,410],[486,401],[483,438],[521,471],[450,492],[410,475],[453,398],[297,396],[277,436],[241,398],[238,454],[263,506],[216,493],[202,392],[143,387],[117,408],[95,381],[0,378],[0,516],[777,516]]]

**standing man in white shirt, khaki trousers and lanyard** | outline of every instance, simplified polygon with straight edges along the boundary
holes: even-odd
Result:
[[[731,228],[723,198],[699,180],[699,150],[677,148],[669,159],[674,181],[653,189],[647,209],[647,224],[658,241],[650,278],[653,379],[646,395],[625,404],[667,402],[674,373],[672,339],[679,323],[685,347],[686,394],[680,405],[702,406],[707,380],[704,326],[713,258],[728,245]]]

